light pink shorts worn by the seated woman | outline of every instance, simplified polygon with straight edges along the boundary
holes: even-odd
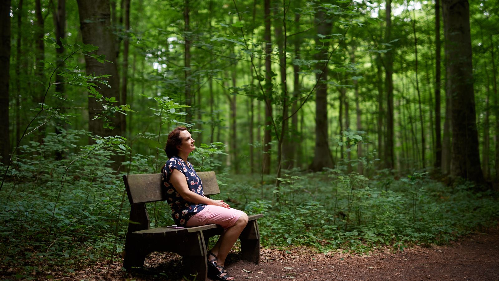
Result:
[[[201,212],[191,216],[186,226],[192,227],[215,223],[227,229],[236,224],[242,213],[243,211],[235,208],[207,205]]]

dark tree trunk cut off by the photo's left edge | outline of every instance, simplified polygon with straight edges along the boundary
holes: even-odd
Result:
[[[10,0],[0,3],[0,156],[4,165],[10,160],[10,131],[8,121],[10,69]],[[19,63],[19,61],[17,61]]]

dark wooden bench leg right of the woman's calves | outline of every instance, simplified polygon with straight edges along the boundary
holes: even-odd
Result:
[[[239,238],[241,240],[241,257],[258,264],[260,262],[260,232],[256,219],[248,222]]]

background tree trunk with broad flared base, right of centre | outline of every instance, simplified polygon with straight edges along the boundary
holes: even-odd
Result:
[[[317,11],[315,14],[315,22],[317,25],[317,33],[329,34],[331,32],[331,23],[326,22],[324,11]],[[316,42],[320,39],[319,36],[315,37]],[[327,50],[329,43],[324,43],[324,48],[316,54],[316,59],[327,60]],[[315,74],[317,88],[315,90],[315,146],[314,158],[310,164],[310,169],[313,171],[320,171],[324,167],[333,167],[333,161],[329,151],[328,141],[328,125],[327,125],[327,70],[328,66],[325,62],[319,62],[316,69],[322,71]]]

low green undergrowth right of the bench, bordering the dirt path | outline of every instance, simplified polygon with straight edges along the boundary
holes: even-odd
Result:
[[[392,177],[385,186],[380,180],[338,169],[285,174],[278,190],[265,188],[264,197],[277,193],[279,201],[261,199],[257,190],[250,190],[245,209],[264,214],[258,220],[264,246],[309,245],[325,252],[446,244],[490,227],[498,217],[492,194],[474,193],[470,185],[448,187],[425,176]]]

